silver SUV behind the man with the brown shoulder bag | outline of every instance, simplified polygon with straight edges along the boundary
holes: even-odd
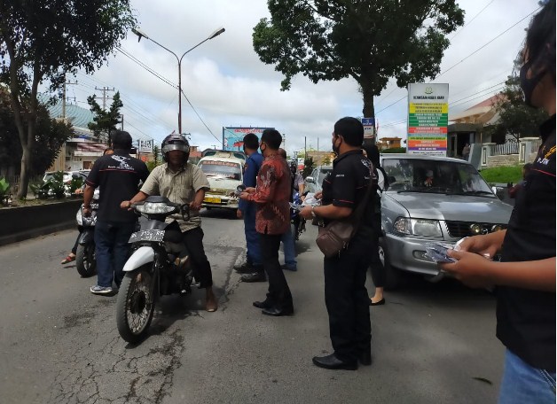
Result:
[[[396,287],[402,271],[431,281],[445,276],[426,254],[429,242],[453,246],[463,237],[506,229],[513,207],[467,161],[384,154],[381,165],[390,183],[381,197],[379,245],[386,287]]]

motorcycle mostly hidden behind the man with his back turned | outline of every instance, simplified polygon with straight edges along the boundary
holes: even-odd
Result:
[[[90,204],[91,214],[83,214],[83,205],[75,214],[77,228],[80,230],[77,238],[77,249],[75,250],[75,268],[82,277],[93,276],[97,269],[95,260],[95,224],[97,224],[98,211],[98,189],[93,193],[93,200]]]

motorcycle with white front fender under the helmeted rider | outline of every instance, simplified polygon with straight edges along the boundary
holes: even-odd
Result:
[[[165,222],[170,214],[182,214],[188,221],[189,206],[151,196],[131,207],[147,220],[129,237],[134,252],[123,268],[116,324],[124,340],[137,343],[149,329],[161,296],[192,291],[193,272],[177,221]]]

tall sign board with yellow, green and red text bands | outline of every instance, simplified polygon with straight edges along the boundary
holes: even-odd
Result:
[[[449,84],[408,85],[408,144],[411,154],[447,155]]]

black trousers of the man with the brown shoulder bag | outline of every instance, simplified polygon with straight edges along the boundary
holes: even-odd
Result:
[[[325,303],[334,354],[341,361],[356,361],[369,352],[372,325],[365,275],[370,264],[373,241],[352,239],[340,256],[324,259]]]

